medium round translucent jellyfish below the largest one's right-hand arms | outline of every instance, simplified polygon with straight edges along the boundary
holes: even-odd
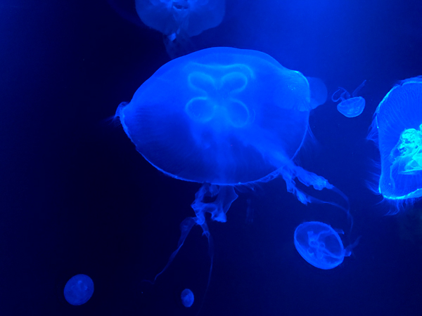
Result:
[[[343,259],[350,256],[351,249],[356,242],[343,247],[338,234],[343,230],[334,230],[330,225],[321,222],[305,222],[295,230],[295,247],[302,258],[316,268],[329,270],[343,263]]]

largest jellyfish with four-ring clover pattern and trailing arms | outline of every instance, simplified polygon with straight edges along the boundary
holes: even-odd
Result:
[[[307,79],[259,51],[207,48],[160,67],[117,108],[124,131],[136,150],[156,169],[179,180],[202,183],[191,204],[194,217],[180,225],[181,237],[170,265],[188,232],[205,220],[226,221],[238,195],[235,187],[253,187],[277,176],[303,204],[322,202],[296,186],[327,188],[347,197],[325,178],[295,165],[309,124]],[[342,207],[342,206],[339,206]],[[210,279],[208,279],[209,282]]]

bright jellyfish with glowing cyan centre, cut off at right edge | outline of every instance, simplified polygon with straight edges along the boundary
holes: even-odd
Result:
[[[397,213],[422,196],[422,79],[394,86],[378,105],[368,138],[378,145],[377,194]]]

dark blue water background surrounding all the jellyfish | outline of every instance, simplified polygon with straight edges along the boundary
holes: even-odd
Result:
[[[170,60],[130,2],[0,3],[0,315],[198,312],[210,266],[200,228],[154,286],[141,282],[175,249],[200,185],[155,170],[108,119]],[[241,192],[227,223],[209,223],[215,265],[200,315],[422,315],[422,211],[385,216],[365,184],[378,158],[365,140],[376,106],[422,74],[422,2],[227,0],[222,24],[191,41],[264,51],[323,79],[329,95],[367,80],[363,114],[343,117],[328,100],[310,118],[318,144],[298,157],[350,198],[345,244],[362,235],[353,256],[319,270],[293,245],[307,220],[347,231],[342,211],[300,204],[281,178]],[[74,307],[63,287],[78,273],[95,291]],[[196,295],[190,309],[184,288]]]

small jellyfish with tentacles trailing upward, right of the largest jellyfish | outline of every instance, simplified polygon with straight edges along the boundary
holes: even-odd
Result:
[[[345,88],[338,87],[338,90],[333,93],[333,96],[331,96],[331,100],[333,102],[338,102],[338,100],[341,100],[340,103],[337,105],[337,110],[341,114],[343,114],[345,117],[357,117],[362,112],[364,112],[365,108],[365,99],[362,97],[358,97],[357,93],[360,89],[365,85],[366,80],[362,82],[356,89],[354,89],[352,93],[352,98],[350,98],[350,93],[347,92]],[[343,90],[343,92],[341,92]],[[335,98],[335,95],[340,93],[340,96],[338,98]]]

